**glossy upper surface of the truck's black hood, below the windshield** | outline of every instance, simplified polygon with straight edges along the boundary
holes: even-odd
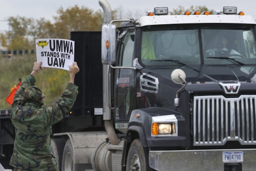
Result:
[[[255,65],[185,65],[182,67],[150,67],[148,69],[170,78],[171,72],[176,68],[185,72],[187,83],[256,82]]]

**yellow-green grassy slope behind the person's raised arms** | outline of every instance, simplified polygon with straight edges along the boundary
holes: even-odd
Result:
[[[10,109],[10,104],[5,98],[10,89],[31,73],[33,63],[36,61],[35,54],[27,56],[11,56],[11,58],[0,56],[0,109]],[[45,94],[44,103],[50,105],[63,92],[69,78],[68,70],[56,68],[44,68],[36,74],[35,85]]]

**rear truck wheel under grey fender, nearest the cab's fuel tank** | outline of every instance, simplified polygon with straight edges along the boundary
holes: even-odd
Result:
[[[62,156],[62,171],[74,171],[73,170],[73,148],[70,139],[67,139]]]

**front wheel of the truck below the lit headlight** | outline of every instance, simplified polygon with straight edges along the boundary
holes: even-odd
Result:
[[[126,171],[146,171],[145,154],[139,139],[134,139],[130,145]]]

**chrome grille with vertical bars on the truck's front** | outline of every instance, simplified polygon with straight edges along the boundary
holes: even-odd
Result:
[[[193,144],[223,145],[228,140],[256,144],[255,98],[256,95],[194,96]]]

